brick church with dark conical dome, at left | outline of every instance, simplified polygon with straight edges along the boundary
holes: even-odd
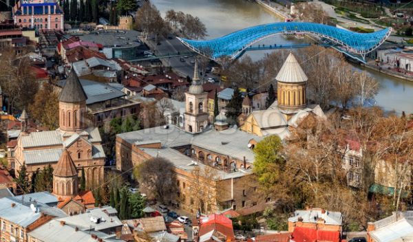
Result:
[[[61,177],[58,162],[70,159],[71,174],[80,177],[83,168],[88,188],[103,182],[105,153],[98,128],[88,126],[86,100],[85,91],[72,69],[59,95],[59,129],[29,132],[28,113],[23,111],[17,146],[10,159],[17,176],[23,165],[31,177],[36,170],[51,164]],[[54,185],[54,192],[61,197],[76,193],[77,183]]]

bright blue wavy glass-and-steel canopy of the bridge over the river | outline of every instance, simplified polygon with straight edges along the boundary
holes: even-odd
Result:
[[[223,56],[236,58],[248,46],[262,41],[270,36],[284,33],[303,32],[313,34],[321,38],[329,39],[341,45],[346,52],[365,56],[381,45],[392,32],[392,28],[386,28],[373,33],[361,34],[341,28],[323,25],[320,23],[287,22],[268,23],[245,28],[218,39],[207,41],[194,41],[178,38],[180,42],[191,50],[209,58],[216,59]]]

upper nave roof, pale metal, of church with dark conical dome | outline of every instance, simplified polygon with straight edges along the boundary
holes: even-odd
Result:
[[[21,145],[23,148],[54,146],[58,144],[62,144],[62,135],[60,131],[33,132],[29,135],[21,136]]]

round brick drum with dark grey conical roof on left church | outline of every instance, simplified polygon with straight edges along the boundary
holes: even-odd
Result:
[[[62,131],[78,132],[86,129],[86,99],[85,91],[72,67],[59,95],[59,127]]]

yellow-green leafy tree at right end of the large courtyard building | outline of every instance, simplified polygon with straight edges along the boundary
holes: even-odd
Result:
[[[253,171],[264,188],[271,188],[279,179],[284,159],[279,155],[282,150],[281,139],[271,135],[258,142],[253,149],[255,155]]]

